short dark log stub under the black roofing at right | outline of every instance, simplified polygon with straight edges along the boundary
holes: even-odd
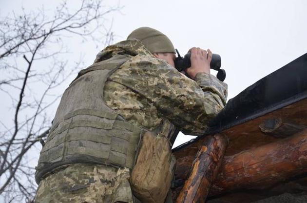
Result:
[[[259,128],[266,135],[286,138],[307,129],[307,126],[282,118],[270,118],[260,123]]]

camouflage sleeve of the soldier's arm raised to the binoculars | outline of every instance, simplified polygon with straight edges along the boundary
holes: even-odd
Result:
[[[226,103],[226,83],[205,73],[198,73],[193,81],[152,56],[135,56],[109,80],[131,88],[152,102],[162,117],[189,135],[203,134],[208,122]]]

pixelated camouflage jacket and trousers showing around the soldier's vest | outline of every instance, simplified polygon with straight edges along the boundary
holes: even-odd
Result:
[[[166,61],[153,57],[138,40],[121,41],[98,53],[95,62],[125,55],[105,83],[103,100],[127,122],[154,130],[163,123],[169,139],[175,127],[201,135],[224,107],[227,85],[214,76],[198,73],[189,79]],[[62,166],[39,183],[36,202],[133,203],[129,169],[76,163]]]

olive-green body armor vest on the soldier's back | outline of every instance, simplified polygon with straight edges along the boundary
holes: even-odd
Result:
[[[55,168],[77,162],[133,168],[143,130],[103,101],[108,77],[129,58],[115,55],[79,72],[65,90],[43,146],[37,183]]]

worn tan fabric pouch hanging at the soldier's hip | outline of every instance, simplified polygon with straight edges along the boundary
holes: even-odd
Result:
[[[163,203],[171,187],[175,162],[168,139],[147,131],[130,177],[134,195],[144,203]]]

